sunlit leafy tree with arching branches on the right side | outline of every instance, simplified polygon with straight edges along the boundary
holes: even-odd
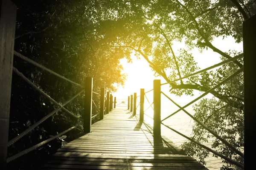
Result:
[[[199,51],[210,48],[222,60],[242,56],[242,51],[221,51],[212,45],[212,40],[232,36],[237,43],[241,42],[242,21],[256,13],[256,3],[252,0],[118,0],[115,3],[109,0],[102,4],[102,9],[108,17],[99,24],[108,25],[108,30],[102,32],[104,37],[116,37],[111,42],[113,48],[123,49],[122,53],[127,58],[135,51],[138,58],[143,57],[148,62],[155,75],[170,82],[199,70],[189,53],[193,48]],[[186,47],[173,51],[175,42],[184,42]],[[194,90],[206,92],[242,67],[243,59],[237,59],[215,71],[170,83],[170,93],[192,96]],[[194,105],[194,116],[241,154],[235,153],[219,139],[214,140],[213,148],[243,164],[243,73],[210,93],[215,98],[202,99]],[[193,139],[207,142],[211,136],[195,123]],[[183,149],[206,163],[204,158],[208,151],[191,142],[183,144]],[[227,161],[223,162],[221,169],[235,168]]]

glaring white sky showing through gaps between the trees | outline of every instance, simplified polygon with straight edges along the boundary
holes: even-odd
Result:
[[[233,37],[228,37],[222,40],[222,37],[216,38],[212,44],[220,49],[221,51],[227,52],[228,50],[243,50],[243,44],[235,43]],[[180,48],[183,48],[184,44],[182,43],[175,43],[172,46],[174,51],[177,51]],[[195,61],[198,62],[198,66],[201,69],[207,68],[211,65],[214,65],[220,60],[220,54],[213,52],[211,49],[204,50],[202,53],[194,49],[191,51]],[[153,88],[153,80],[154,79],[161,79],[161,83],[165,83],[166,81],[162,77],[154,77],[154,72],[151,71],[151,68],[148,65],[148,62],[141,57],[141,59],[136,59],[136,57],[131,56],[133,62],[127,63],[126,59],[121,59],[120,62],[124,68],[124,72],[128,74],[127,81],[125,82],[125,87],[119,87],[118,91],[113,94],[116,96],[116,99],[126,99],[131,94],[137,93],[137,96],[140,95],[140,88],[144,88],[145,92],[149,91]],[[198,91],[194,91],[195,96],[175,96],[174,94],[169,93],[169,85],[161,86],[161,91],[166,93],[167,95],[171,96],[177,102],[180,103],[188,103],[192,99],[195,99],[199,95]],[[208,96],[209,97],[209,96]],[[210,96],[211,97],[211,96]]]

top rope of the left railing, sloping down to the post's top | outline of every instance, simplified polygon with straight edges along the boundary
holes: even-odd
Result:
[[[71,82],[71,83],[74,84],[74,85],[77,85],[77,86],[79,86],[79,87],[81,87],[81,88],[84,88],[84,86],[79,85],[78,83],[73,82],[73,81],[71,81],[70,79],[67,79],[66,77],[63,77],[63,76],[61,76],[61,75],[58,74],[58,73],[55,73],[54,71],[50,70],[49,68],[46,68],[46,67],[44,67],[43,65],[38,64],[37,62],[34,62],[32,59],[29,59],[28,57],[23,56],[22,54],[18,53],[17,51],[14,51],[14,55],[17,56],[17,57],[19,57],[19,58],[21,58],[21,59],[23,59],[23,60],[25,60],[26,62],[29,62],[29,63],[32,64],[32,65],[35,65],[35,66],[37,66],[37,67],[43,69],[44,71],[47,71],[47,72],[49,72],[49,73],[51,73],[51,74],[54,74],[54,75],[57,76],[57,77],[60,77],[61,79],[64,79],[64,80],[66,80],[66,81],[68,81],[68,82]]]

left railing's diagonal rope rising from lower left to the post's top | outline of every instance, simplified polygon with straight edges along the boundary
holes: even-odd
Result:
[[[79,94],[81,94],[84,91],[84,89],[82,89],[81,91],[79,91],[77,94],[75,94],[73,97],[71,97],[70,99],[68,99],[66,102],[63,103],[63,105],[61,105],[61,107],[63,108],[65,105],[67,105],[71,100],[75,99]],[[49,113],[47,116],[44,116],[42,119],[40,119],[38,122],[36,122],[34,125],[30,126],[28,129],[24,130],[22,133],[20,133],[18,136],[16,136],[15,138],[13,138],[12,140],[10,140],[8,142],[8,147],[11,146],[12,144],[14,144],[15,142],[17,142],[20,138],[22,138],[23,136],[25,136],[27,133],[29,133],[30,131],[32,131],[35,127],[37,127],[38,125],[40,125],[42,122],[44,122],[46,119],[48,119],[50,116],[52,116],[54,113],[56,113],[57,111],[59,111],[61,109],[61,107],[56,108],[54,111],[52,111],[51,113]],[[75,115],[73,115],[75,116]],[[77,119],[81,119],[78,118],[76,116]],[[81,119],[83,120],[83,119]]]

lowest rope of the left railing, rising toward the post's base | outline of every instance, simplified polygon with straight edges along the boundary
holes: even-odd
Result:
[[[82,123],[82,122],[81,122],[81,123]],[[81,125],[81,123],[79,123],[78,125]],[[47,140],[45,140],[45,141],[43,141],[43,142],[41,142],[41,143],[39,143],[39,144],[36,144],[35,146],[30,147],[29,149],[23,150],[22,152],[17,153],[16,155],[7,158],[7,163],[10,162],[10,161],[15,160],[15,159],[17,159],[17,158],[19,158],[20,156],[23,156],[23,155],[25,155],[25,154],[27,154],[27,153],[29,153],[29,152],[35,150],[35,149],[38,148],[38,147],[41,147],[42,145],[44,145],[44,144],[46,144],[46,143],[52,141],[53,139],[56,139],[57,137],[63,135],[64,133],[67,133],[68,131],[72,130],[73,128],[76,128],[78,125],[73,126],[73,127],[70,127],[69,129],[67,129],[67,130],[65,130],[65,131],[63,131],[63,132],[61,132],[61,133],[58,133],[58,135],[55,135],[55,136],[53,136],[53,137],[51,137],[51,138],[49,138],[49,139],[47,139]]]

